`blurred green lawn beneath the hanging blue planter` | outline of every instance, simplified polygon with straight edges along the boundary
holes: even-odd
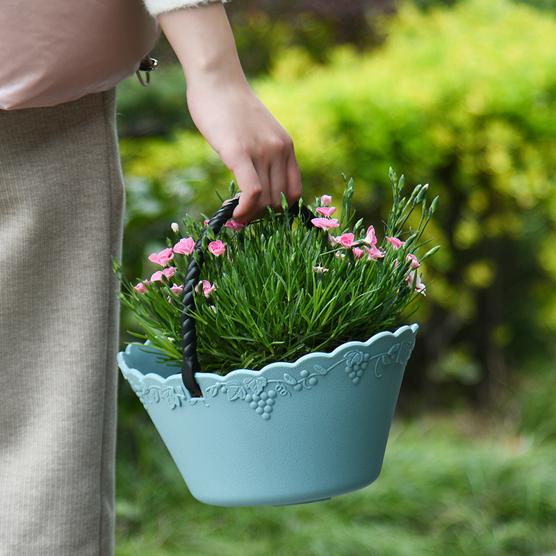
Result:
[[[556,441],[499,420],[466,411],[396,420],[382,474],[366,489],[309,505],[220,508],[190,496],[142,413],[128,418],[122,416],[133,424],[122,432],[130,436],[120,438],[117,468],[116,556],[514,556],[556,549]]]

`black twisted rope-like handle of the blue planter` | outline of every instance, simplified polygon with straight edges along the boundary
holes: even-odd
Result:
[[[183,385],[186,386],[186,389],[192,394],[201,393],[199,384],[197,384],[195,380],[195,373],[200,372],[201,366],[197,359],[197,333],[195,331],[195,319],[191,315],[191,311],[195,309],[193,292],[195,291],[195,286],[199,284],[201,267],[204,263],[203,238],[207,235],[208,227],[210,227],[216,235],[220,229],[222,229],[222,226],[230,220],[234,213],[234,209],[239,204],[239,195],[238,193],[234,199],[229,199],[224,202],[218,211],[215,212],[213,218],[208,220],[201,237],[197,240],[197,243],[195,243],[195,250],[191,254],[186,276],[183,279],[183,292],[181,295],[181,303],[183,304],[183,309],[181,311],[181,340],[183,345],[181,379],[183,380]],[[305,205],[302,205],[300,208],[300,205],[295,203],[289,211],[292,215],[301,213],[302,220],[306,227],[313,227],[311,219],[315,218],[315,215]],[[197,254],[198,262],[195,260],[195,253]]]

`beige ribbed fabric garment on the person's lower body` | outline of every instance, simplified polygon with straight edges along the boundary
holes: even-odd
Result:
[[[114,549],[115,91],[0,111],[0,555]]]

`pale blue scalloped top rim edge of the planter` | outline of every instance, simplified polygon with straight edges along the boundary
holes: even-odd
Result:
[[[308,353],[306,355],[303,355],[302,357],[300,357],[300,359],[297,359],[297,361],[294,361],[293,363],[286,363],[285,361],[276,361],[275,363],[269,363],[268,365],[264,366],[261,370],[252,370],[252,369],[236,369],[236,370],[232,370],[230,373],[228,373],[227,375],[215,375],[215,373],[195,373],[195,377],[202,377],[205,379],[214,379],[214,380],[218,380],[218,381],[227,381],[231,378],[234,377],[239,377],[239,376],[243,376],[245,377],[245,375],[251,375],[254,377],[260,376],[261,374],[270,371],[272,369],[275,368],[284,368],[284,366],[286,366],[286,368],[292,368],[294,366],[300,365],[300,363],[305,363],[307,360],[309,359],[313,359],[315,357],[325,357],[327,359],[331,359],[332,357],[335,357],[336,354],[340,351],[340,350],[345,350],[346,348],[349,347],[359,347],[361,345],[364,346],[368,346],[371,343],[374,343],[375,341],[378,341],[380,338],[384,338],[384,336],[401,336],[402,334],[404,334],[404,332],[407,332],[407,330],[411,330],[411,332],[413,332],[413,334],[417,334],[417,331],[419,329],[419,325],[418,324],[413,324],[413,325],[404,325],[400,328],[398,328],[395,332],[389,332],[387,330],[385,330],[384,332],[377,332],[377,334],[375,334],[374,336],[371,336],[367,341],[365,342],[360,342],[360,341],[350,341],[350,342],[346,342],[343,343],[342,345],[338,345],[338,347],[336,347],[336,349],[331,352],[331,353],[326,353],[326,352],[311,352]],[[147,342],[148,343],[148,342]],[[147,344],[145,343],[145,345]],[[133,350],[134,347],[139,347],[141,349],[141,346],[138,344],[129,344],[126,347],[125,350],[125,354],[129,354],[131,352],[131,350]],[[145,352],[150,352],[150,353],[154,353],[155,350],[142,350]],[[124,353],[120,352],[117,354],[117,361],[120,364],[120,368],[122,369],[122,372],[124,372],[124,374],[126,375],[135,375],[138,379],[140,378],[151,378],[153,380],[156,380],[158,382],[160,382],[161,384],[167,384],[167,382],[172,382],[175,381],[176,379],[179,379],[181,381],[181,373],[176,373],[174,375],[170,375],[167,378],[163,378],[161,377],[161,375],[157,375],[156,373],[147,373],[146,375],[143,375],[140,370],[133,368],[133,367],[129,367],[124,359]],[[123,368],[122,368],[123,367]]]

